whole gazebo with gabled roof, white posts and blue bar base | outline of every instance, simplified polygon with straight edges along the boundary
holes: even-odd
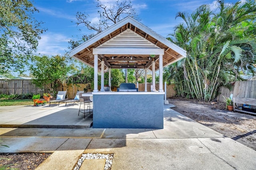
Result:
[[[128,16],[72,49],[70,55],[94,68],[93,127],[163,128],[163,68],[186,57],[184,49]],[[104,71],[109,71],[111,86],[110,70],[123,68],[145,69],[144,92],[104,91]],[[146,91],[148,69],[152,70],[152,92]],[[157,70],[159,91],[155,86]]]

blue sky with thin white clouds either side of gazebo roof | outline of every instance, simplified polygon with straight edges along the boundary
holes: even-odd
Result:
[[[226,0],[235,3],[238,0]],[[114,3],[115,0],[102,0],[103,3]],[[193,12],[198,6],[208,4],[216,8],[214,0],[131,0],[138,13],[140,22],[163,37],[174,31],[174,26],[182,20],[175,15],[177,12]],[[43,28],[48,29],[41,35],[37,54],[64,54],[68,49],[68,41],[78,40],[89,34],[84,26],[76,25],[76,12],[86,12],[90,19],[97,20],[96,0],[34,0],[34,6],[40,11],[34,17],[44,22]],[[80,31],[79,31],[80,29]]]

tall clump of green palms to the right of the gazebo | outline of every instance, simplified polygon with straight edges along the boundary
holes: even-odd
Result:
[[[184,24],[176,26],[168,39],[188,53],[187,58],[169,67],[175,76],[166,73],[166,78],[175,80],[180,96],[211,101],[220,85],[241,79],[241,70],[252,71],[256,40],[251,20],[256,17],[256,5],[248,1],[225,6],[224,0],[218,4],[217,14],[202,5],[190,15],[176,15]]]

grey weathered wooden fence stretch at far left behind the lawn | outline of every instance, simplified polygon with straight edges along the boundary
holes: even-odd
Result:
[[[58,87],[59,91],[62,91],[62,86]],[[32,83],[32,80],[24,80],[24,79],[11,79],[11,80],[0,80],[0,94],[40,94],[48,93],[48,89],[36,87],[35,84]]]

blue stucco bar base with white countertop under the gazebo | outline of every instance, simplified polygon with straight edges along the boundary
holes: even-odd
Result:
[[[93,128],[164,128],[163,92],[96,92]]]

